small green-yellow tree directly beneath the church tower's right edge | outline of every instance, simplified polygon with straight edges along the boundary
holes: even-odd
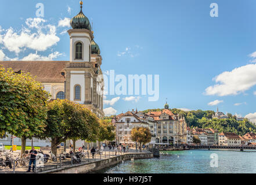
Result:
[[[99,124],[99,142],[104,140],[114,140],[116,138],[115,127],[111,120],[100,120]]]

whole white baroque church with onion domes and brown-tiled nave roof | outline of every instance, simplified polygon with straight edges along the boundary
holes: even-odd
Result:
[[[0,61],[0,65],[5,69],[12,68],[16,73],[31,73],[51,93],[51,99],[80,103],[102,118],[102,56],[89,19],[82,12],[82,4],[80,1],[81,11],[71,19],[72,29],[67,31],[70,36],[69,61]],[[41,142],[34,141],[34,146],[41,146]]]

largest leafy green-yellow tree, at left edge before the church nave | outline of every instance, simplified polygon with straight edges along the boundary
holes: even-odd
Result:
[[[29,73],[5,71],[1,66],[0,93],[0,132],[21,138],[21,153],[24,153],[26,139],[40,138],[45,132],[50,95]]]

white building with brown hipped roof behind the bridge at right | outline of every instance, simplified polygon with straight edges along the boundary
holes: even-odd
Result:
[[[221,132],[219,146],[241,146],[241,138],[235,133]]]

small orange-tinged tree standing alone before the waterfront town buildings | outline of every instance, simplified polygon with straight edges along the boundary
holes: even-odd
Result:
[[[152,135],[149,128],[145,128],[145,127],[132,128],[131,140],[139,143],[140,151],[142,148],[142,144],[146,145],[146,143],[149,143],[151,141],[151,137]]]

